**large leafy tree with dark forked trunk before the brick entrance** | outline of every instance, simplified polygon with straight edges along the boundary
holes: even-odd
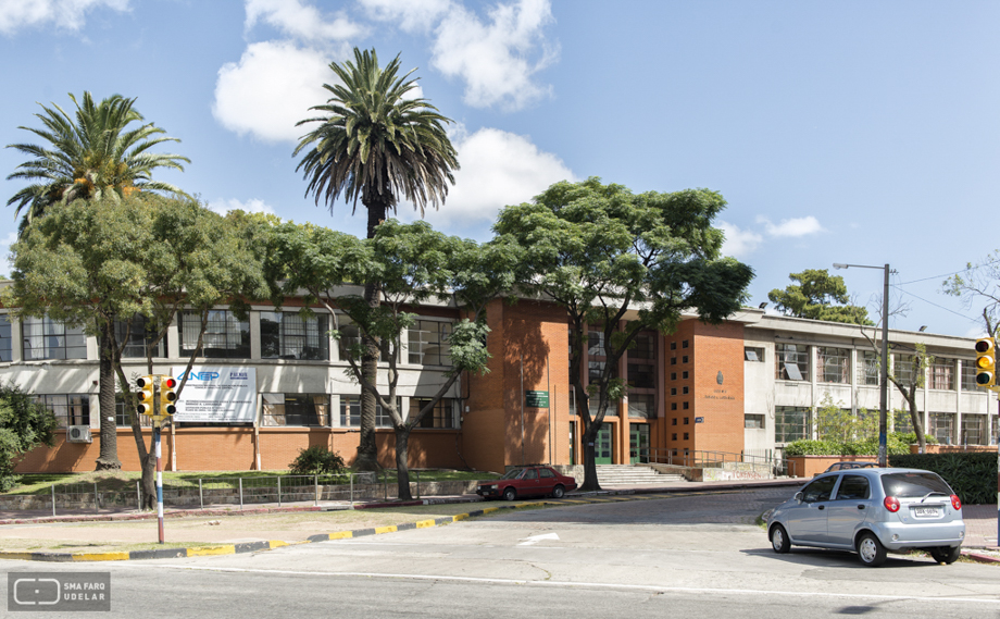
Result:
[[[615,369],[642,330],[673,333],[682,312],[720,323],[739,310],[750,267],[721,257],[712,220],[725,207],[715,191],[633,194],[600,178],[561,182],[533,202],[505,207],[493,226],[520,248],[520,285],[566,309],[570,376],[583,420],[583,488],[599,490],[595,442],[609,405],[626,392]],[[583,351],[595,326],[604,368],[584,385]],[[590,399],[597,412],[590,414]]]

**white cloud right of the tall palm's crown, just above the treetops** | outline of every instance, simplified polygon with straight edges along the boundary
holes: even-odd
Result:
[[[576,179],[562,160],[542,152],[526,136],[495,128],[465,135],[460,127],[452,144],[462,169],[440,211],[428,218],[458,227],[490,224],[501,208],[529,201],[552,183]],[[413,216],[402,207],[399,214]]]

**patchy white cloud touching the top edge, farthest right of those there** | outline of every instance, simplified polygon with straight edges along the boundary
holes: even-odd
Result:
[[[558,46],[542,37],[553,21],[548,0],[498,4],[488,16],[484,24],[464,7],[453,7],[437,27],[432,65],[463,79],[464,100],[476,108],[517,110],[549,96],[551,87],[534,81],[558,57]],[[528,60],[536,48],[540,58]]]

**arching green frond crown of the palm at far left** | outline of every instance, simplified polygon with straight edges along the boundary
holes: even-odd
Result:
[[[116,200],[135,191],[183,195],[173,185],[153,181],[152,172],[159,168],[184,170],[182,162],[190,160],[179,154],[150,152],[164,141],[180,140],[161,135],[165,132],[153,123],[129,126],[143,121],[133,107],[135,99],[112,95],[95,103],[90,92],[84,92],[82,104],[72,94],[70,99],[76,106],[72,116],[55,103],[41,106],[43,113],[35,115],[45,128],[18,127],[46,144],[8,145],[34,158],[8,176],[8,179],[34,182],[7,202],[17,205],[17,214],[25,211],[20,224],[22,234],[58,202]]]

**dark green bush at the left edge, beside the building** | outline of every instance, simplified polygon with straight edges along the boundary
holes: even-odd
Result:
[[[0,491],[17,483],[14,467],[24,454],[39,445],[52,446],[58,422],[30,394],[11,384],[0,384]]]

